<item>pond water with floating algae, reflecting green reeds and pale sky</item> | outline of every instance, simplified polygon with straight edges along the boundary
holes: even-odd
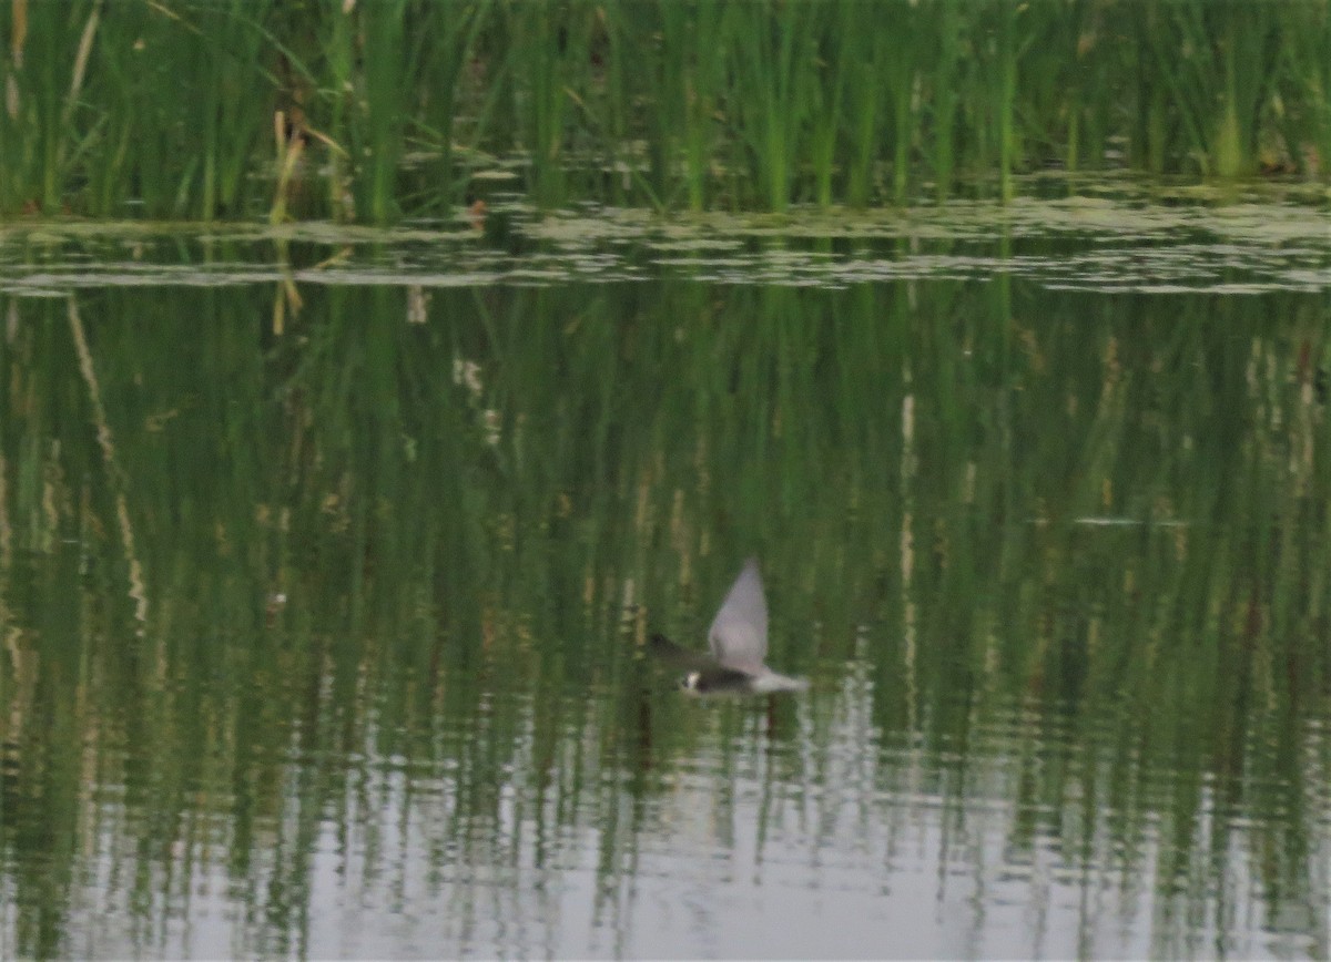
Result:
[[[1331,954],[1331,217],[0,230],[0,957]],[[771,664],[683,696],[749,554]]]

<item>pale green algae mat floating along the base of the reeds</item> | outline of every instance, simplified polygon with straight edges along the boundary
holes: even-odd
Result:
[[[829,287],[1010,275],[1046,287],[1158,294],[1331,283],[1331,213],[1324,202],[1308,204],[1303,188],[1190,189],[1167,206],[1153,202],[1159,190],[1110,188],[1114,197],[789,216],[540,213],[512,202],[488,214],[503,225],[499,242],[471,214],[389,229],[19,224],[0,228],[0,290],[262,281],[429,289],[663,274]]]

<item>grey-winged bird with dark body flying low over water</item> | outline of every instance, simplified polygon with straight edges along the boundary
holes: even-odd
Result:
[[[711,657],[688,651],[664,635],[652,635],[652,652],[688,668],[680,688],[688,695],[768,695],[803,692],[808,679],[779,675],[767,659],[767,599],[757,559],[744,561],[707,631]]]

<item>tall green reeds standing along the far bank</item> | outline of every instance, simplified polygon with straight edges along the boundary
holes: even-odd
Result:
[[[12,0],[0,214],[780,212],[1331,166],[1324,0]],[[274,137],[280,141],[274,145]]]

